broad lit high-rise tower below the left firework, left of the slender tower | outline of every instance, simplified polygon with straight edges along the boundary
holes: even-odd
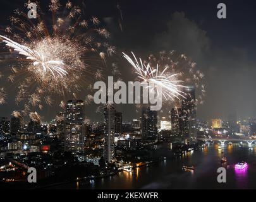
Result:
[[[82,100],[69,100],[65,114],[64,150],[83,153],[85,147],[84,104]]]

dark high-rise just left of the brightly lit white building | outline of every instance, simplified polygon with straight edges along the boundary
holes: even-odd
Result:
[[[150,110],[150,107],[143,107],[141,120],[142,137],[157,138],[157,111]]]

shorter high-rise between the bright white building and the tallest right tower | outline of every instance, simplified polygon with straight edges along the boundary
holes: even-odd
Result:
[[[182,117],[181,108],[171,109],[171,131],[174,135],[181,134]]]

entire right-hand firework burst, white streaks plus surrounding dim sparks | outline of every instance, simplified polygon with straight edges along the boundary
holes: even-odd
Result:
[[[177,54],[174,50],[161,51],[157,56],[151,54],[145,61],[137,60],[134,54],[133,59],[124,53],[123,56],[133,66],[138,80],[147,84],[152,81],[155,84],[151,87],[152,90],[158,91],[157,86],[161,86],[162,94],[159,92],[157,94],[161,94],[164,99],[159,114],[168,112],[164,116],[171,118],[170,107],[174,108],[180,116],[178,109],[181,108],[183,102],[189,103],[195,110],[198,105],[204,104],[206,93],[204,74],[196,68],[196,63],[185,54]],[[180,85],[181,81],[182,85]],[[195,97],[188,92],[189,88],[195,89],[197,94]],[[140,109],[142,105],[136,107]],[[183,109],[183,115],[186,116],[190,113],[189,109]]]

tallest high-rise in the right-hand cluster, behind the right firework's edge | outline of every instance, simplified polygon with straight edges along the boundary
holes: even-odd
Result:
[[[182,134],[189,138],[196,138],[197,136],[197,121],[195,109],[195,87],[186,86],[184,92],[185,98],[181,102],[182,113]]]

